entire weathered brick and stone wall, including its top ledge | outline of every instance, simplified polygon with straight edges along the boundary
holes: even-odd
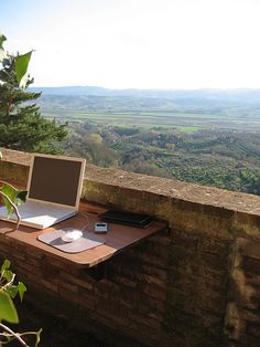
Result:
[[[3,150],[0,179],[24,186],[29,159]],[[83,198],[152,214],[170,230],[90,272],[1,238],[1,257],[35,302],[44,292],[47,309],[112,346],[260,345],[260,197],[87,166]]]

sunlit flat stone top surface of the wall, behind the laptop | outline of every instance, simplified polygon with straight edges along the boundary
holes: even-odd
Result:
[[[1,151],[3,162],[12,162],[25,167],[30,165],[31,155],[28,153],[10,149],[2,149]],[[85,179],[115,188],[151,192],[174,200],[260,215],[259,196],[198,186],[176,179],[127,172],[115,168],[100,168],[94,165],[87,165]],[[85,194],[87,196],[87,192]]]

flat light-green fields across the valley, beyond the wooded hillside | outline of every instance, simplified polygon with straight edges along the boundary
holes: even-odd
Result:
[[[226,128],[243,129],[249,132],[260,130],[260,120],[254,116],[243,118],[235,115],[214,115],[201,113],[175,112],[116,112],[116,111],[84,111],[84,109],[57,109],[44,112],[46,117],[64,122],[94,122],[108,125],[128,125],[138,127],[177,127],[178,130],[192,134],[199,128]]]

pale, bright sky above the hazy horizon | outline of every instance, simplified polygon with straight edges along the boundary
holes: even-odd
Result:
[[[260,88],[260,0],[0,0],[34,86]]]

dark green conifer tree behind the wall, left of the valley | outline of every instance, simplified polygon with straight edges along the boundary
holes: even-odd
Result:
[[[0,147],[57,154],[58,143],[67,137],[67,125],[44,118],[40,107],[32,104],[41,96],[41,93],[25,91],[33,83],[33,78],[25,75],[32,52],[6,53],[4,41],[0,35]]]

